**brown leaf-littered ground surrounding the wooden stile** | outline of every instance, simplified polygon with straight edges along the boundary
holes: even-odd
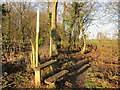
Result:
[[[24,57],[20,54],[16,55],[20,59],[14,62],[12,60],[15,59],[15,56],[9,58],[9,61],[3,59],[1,62],[3,77],[0,77],[2,78],[2,88],[35,88],[34,72],[30,69],[29,63],[29,52],[21,52]],[[56,88],[119,88],[120,58],[118,55],[117,45],[99,45],[96,51],[93,50],[86,54],[60,50],[60,54],[53,57],[58,60],[53,67],[56,71],[67,69],[70,72],[56,82]],[[46,72],[47,70],[49,67],[41,71],[45,75],[43,78],[56,73],[50,74]],[[46,88],[44,82],[41,88]]]

